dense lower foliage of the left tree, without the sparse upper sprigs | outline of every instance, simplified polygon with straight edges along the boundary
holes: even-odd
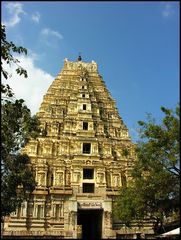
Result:
[[[38,120],[31,117],[22,99],[5,100],[1,110],[1,214],[15,211],[35,188],[34,175],[28,164],[29,157],[21,154],[21,148],[30,137],[39,133]],[[21,186],[17,191],[17,187]]]

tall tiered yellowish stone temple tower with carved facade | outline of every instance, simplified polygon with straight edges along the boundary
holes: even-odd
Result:
[[[4,223],[4,238],[136,238],[151,224],[126,228],[113,218],[118,190],[129,182],[134,144],[92,61],[64,60],[37,116],[44,135],[23,149],[37,186]],[[125,154],[127,152],[127,154]]]

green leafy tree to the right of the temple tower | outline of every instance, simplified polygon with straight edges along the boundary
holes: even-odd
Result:
[[[127,226],[133,220],[153,220],[155,232],[165,219],[179,214],[180,107],[161,110],[161,124],[156,124],[151,115],[148,122],[138,122],[141,141],[136,146],[132,181],[120,189],[114,209],[114,215]]]

